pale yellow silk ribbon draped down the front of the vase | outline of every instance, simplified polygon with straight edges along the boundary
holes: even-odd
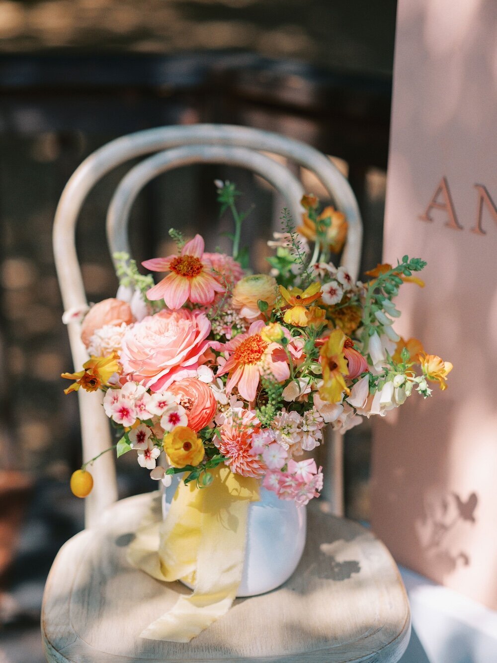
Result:
[[[213,471],[207,488],[178,485],[163,523],[150,519],[130,544],[133,566],[159,580],[183,580],[195,587],[152,622],[140,637],[190,642],[225,615],[241,582],[249,504],[258,501],[256,479]]]

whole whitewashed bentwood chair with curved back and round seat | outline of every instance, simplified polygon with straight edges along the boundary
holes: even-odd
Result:
[[[313,171],[349,221],[343,263],[355,277],[362,228],[351,188],[315,149],[274,133],[227,125],[162,127],[141,131],[91,154],[70,178],[56,212],[54,253],[66,309],[86,304],[76,256],[75,226],[93,185],[119,164],[155,152],[123,178],[109,207],[111,253],[128,251],[127,221],[140,189],[161,172],[197,162],[235,164],[265,178],[301,213],[302,185],[280,163],[280,154]],[[85,361],[80,326],[69,326],[75,367]],[[107,418],[97,393],[78,392],[83,457],[110,446]],[[335,440],[340,456],[341,440]],[[336,461],[336,459],[335,459]],[[339,465],[339,463],[338,463]],[[337,463],[335,462],[335,467]],[[95,487],[85,504],[86,528],[60,550],[42,607],[42,636],[48,660],[78,662],[150,661],[396,661],[410,635],[410,610],[402,580],[388,550],[358,524],[337,518],[329,503],[309,509],[304,558],[292,578],[266,595],[239,599],[232,609],[190,644],[138,638],[176,595],[180,583],[160,583],[126,562],[125,548],[158,493],[117,502],[110,454],[93,466]],[[339,477],[341,481],[341,475]],[[335,511],[341,509],[341,483]],[[243,625],[243,627],[241,627]]]

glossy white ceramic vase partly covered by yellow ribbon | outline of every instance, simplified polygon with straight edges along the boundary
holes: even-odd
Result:
[[[164,518],[177,485],[178,481],[173,481],[163,493]],[[263,594],[288,580],[304,552],[306,516],[305,507],[260,488],[260,501],[249,505],[245,564],[237,597]]]

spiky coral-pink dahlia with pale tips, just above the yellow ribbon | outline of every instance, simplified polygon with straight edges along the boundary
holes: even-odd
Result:
[[[264,461],[252,448],[252,436],[260,431],[258,418],[249,410],[237,410],[219,426],[221,440],[213,438],[215,446],[227,457],[227,465],[242,477],[262,477],[266,472]]]

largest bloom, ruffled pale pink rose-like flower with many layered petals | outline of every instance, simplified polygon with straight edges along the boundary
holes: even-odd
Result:
[[[121,346],[128,379],[146,389],[167,389],[174,381],[197,375],[210,347],[211,323],[195,310],[162,310],[130,327]]]

